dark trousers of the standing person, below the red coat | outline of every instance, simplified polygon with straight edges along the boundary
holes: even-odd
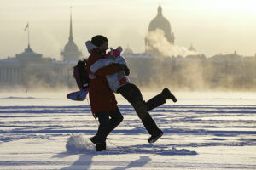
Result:
[[[99,111],[96,112],[96,116],[100,123],[96,138],[100,139],[102,142],[106,141],[108,134],[124,119],[119,109],[116,111]]]

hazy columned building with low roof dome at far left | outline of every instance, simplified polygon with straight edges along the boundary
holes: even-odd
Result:
[[[55,86],[58,83],[68,84],[70,64],[55,59],[44,58],[35,53],[30,45],[15,58],[0,60],[0,84],[3,86],[22,85]]]

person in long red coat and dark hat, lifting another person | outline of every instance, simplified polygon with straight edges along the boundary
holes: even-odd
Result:
[[[109,65],[96,71],[90,72],[90,65],[98,59],[104,59],[108,49],[108,39],[103,36],[91,38],[91,42],[97,47],[90,51],[87,59],[87,71],[90,77],[90,108],[93,116],[98,117],[99,127],[96,135],[90,140],[96,144],[96,151],[106,150],[106,139],[108,134],[123,121],[113,91],[108,87],[107,75],[120,71],[117,65]],[[109,118],[110,117],[110,118]]]

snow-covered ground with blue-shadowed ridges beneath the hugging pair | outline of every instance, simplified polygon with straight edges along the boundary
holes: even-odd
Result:
[[[256,94],[177,93],[150,111],[164,136],[148,134],[117,95],[124,121],[96,153],[88,101],[67,93],[0,94],[0,169],[256,169]],[[145,99],[156,93],[143,93]]]

